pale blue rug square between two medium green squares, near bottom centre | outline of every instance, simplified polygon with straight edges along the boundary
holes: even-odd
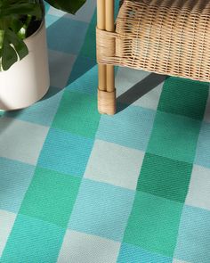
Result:
[[[83,179],[69,219],[69,229],[122,241],[134,191]]]

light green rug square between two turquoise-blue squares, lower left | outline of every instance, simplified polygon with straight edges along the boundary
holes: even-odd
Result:
[[[81,179],[52,170],[36,168],[20,214],[66,227]]]

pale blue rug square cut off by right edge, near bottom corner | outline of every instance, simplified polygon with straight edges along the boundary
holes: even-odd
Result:
[[[187,262],[210,259],[210,211],[184,206],[174,256]]]

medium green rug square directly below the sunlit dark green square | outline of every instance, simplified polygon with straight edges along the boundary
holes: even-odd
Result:
[[[137,192],[124,242],[172,257],[181,215],[182,203]]]

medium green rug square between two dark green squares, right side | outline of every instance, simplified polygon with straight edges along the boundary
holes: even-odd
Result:
[[[147,152],[192,163],[200,126],[198,119],[158,111]]]

